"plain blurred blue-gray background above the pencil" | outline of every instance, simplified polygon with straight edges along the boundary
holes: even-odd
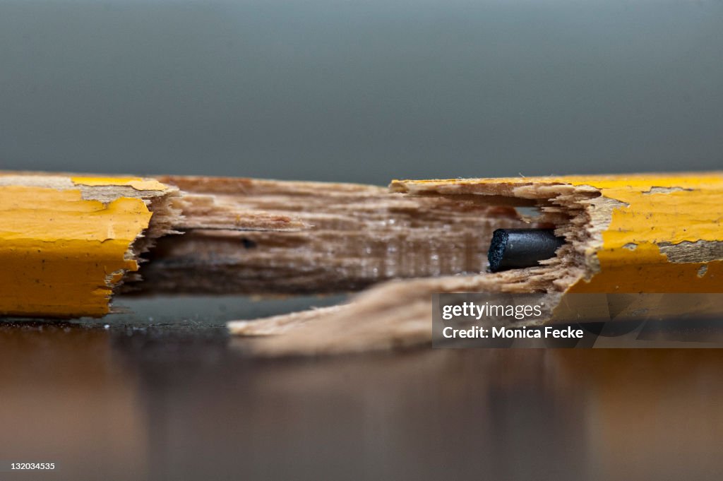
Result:
[[[716,169],[721,1],[2,1],[0,168]]]

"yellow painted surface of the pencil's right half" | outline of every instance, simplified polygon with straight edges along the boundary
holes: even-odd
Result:
[[[395,187],[393,182],[393,188]],[[510,177],[414,181],[424,187],[472,184],[589,185],[624,203],[612,212],[594,252],[599,272],[572,292],[723,292],[723,260],[672,263],[660,244],[723,241],[723,174]],[[701,271],[701,268],[703,270]]]

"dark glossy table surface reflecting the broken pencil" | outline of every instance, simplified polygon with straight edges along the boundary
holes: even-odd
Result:
[[[221,319],[299,306],[209,302],[132,300],[134,313],[100,323],[1,325],[0,460],[58,468],[0,480],[723,474],[723,350],[253,359]]]

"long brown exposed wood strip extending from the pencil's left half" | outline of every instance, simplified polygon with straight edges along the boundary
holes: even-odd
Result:
[[[407,196],[319,182],[161,180],[184,192],[178,228],[185,234],[158,242],[142,267],[137,287],[144,291],[327,294],[394,278],[479,273],[494,229],[529,226],[513,206],[479,196]]]

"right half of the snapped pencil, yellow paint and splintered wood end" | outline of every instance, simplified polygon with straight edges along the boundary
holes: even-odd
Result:
[[[541,215],[527,227],[552,225],[566,243],[539,267],[388,281],[339,307],[229,323],[232,333],[260,336],[245,349],[299,355],[429,344],[434,293],[544,291],[554,306],[568,292],[723,292],[721,174],[395,181],[390,191],[412,201],[535,205]],[[499,211],[479,233],[484,245],[505,227]]]

